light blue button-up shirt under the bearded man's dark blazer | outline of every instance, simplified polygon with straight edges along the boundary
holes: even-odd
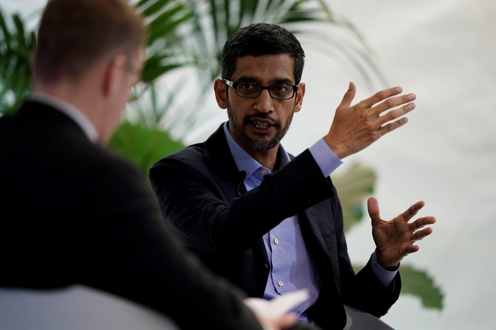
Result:
[[[263,177],[271,173],[270,170],[260,165],[234,141],[226,123],[224,123],[224,133],[238,171],[246,172],[246,189],[256,188],[262,183]],[[281,144],[279,148],[282,151],[282,158],[280,159],[280,167],[282,167],[290,161],[290,158]],[[309,150],[324,177],[329,176],[342,164],[342,161],[332,152],[323,139],[313,144]],[[298,217],[293,216],[283,220],[263,236],[263,242],[265,243],[269,260],[269,277],[263,298],[270,300],[287,292],[303,288],[308,289],[309,300],[294,310],[301,322],[307,322],[305,311],[317,301],[322,282],[319,273],[314,271],[315,266],[303,240]],[[377,264],[375,252],[372,255],[372,270],[379,281],[386,287],[389,286],[398,271],[396,269],[390,272],[383,269]]]

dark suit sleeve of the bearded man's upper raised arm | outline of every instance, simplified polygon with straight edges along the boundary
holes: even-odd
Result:
[[[168,225],[187,246],[208,253],[246,251],[281,221],[333,193],[308,149],[230,205],[204,179],[194,164],[171,156],[150,170]]]

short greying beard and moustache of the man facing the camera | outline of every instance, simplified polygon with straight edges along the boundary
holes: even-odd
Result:
[[[286,121],[286,124],[282,128],[281,128],[282,126],[281,122],[279,120],[270,117],[268,113],[264,113],[264,112],[258,112],[257,114],[253,114],[253,115],[246,115],[243,118],[243,124],[240,127],[237,124],[238,117],[236,113],[233,111],[231,103],[229,102],[229,98],[227,98],[227,117],[229,118],[229,124],[231,126],[231,129],[233,130],[234,135],[240,141],[242,141],[246,146],[248,146],[251,149],[259,150],[259,151],[267,151],[278,145],[279,142],[282,140],[282,138],[284,138],[284,136],[288,132],[289,126],[293,121],[293,115],[295,114],[295,105],[296,102],[293,105],[293,110],[291,112],[291,115],[289,116],[288,120]],[[261,137],[260,139],[252,139],[248,136],[247,126],[251,125],[251,121],[256,118],[269,119],[274,123],[274,128],[276,129],[276,133],[271,140],[267,140],[264,137]]]

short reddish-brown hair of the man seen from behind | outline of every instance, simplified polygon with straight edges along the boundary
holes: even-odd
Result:
[[[34,57],[37,82],[79,80],[89,67],[144,44],[142,19],[125,0],[49,0]]]

